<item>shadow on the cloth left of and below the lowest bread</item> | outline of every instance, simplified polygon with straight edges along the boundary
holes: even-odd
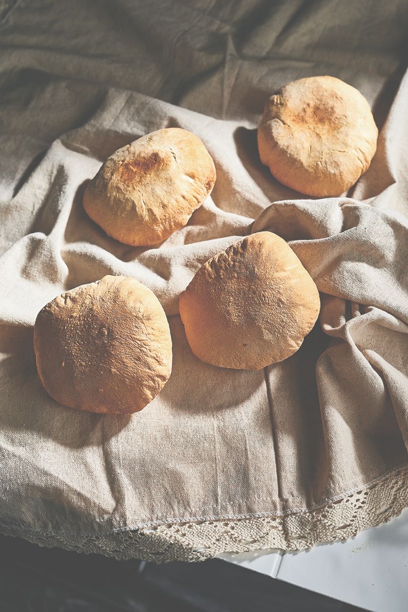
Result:
[[[15,431],[31,431],[62,446],[100,446],[114,438],[130,416],[94,414],[66,408],[51,398],[35,367],[32,327],[0,327],[0,428],[11,441]],[[5,384],[7,381],[7,384]]]

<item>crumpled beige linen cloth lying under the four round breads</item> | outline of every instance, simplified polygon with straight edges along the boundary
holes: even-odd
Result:
[[[169,3],[166,35],[154,3],[150,9],[121,3],[115,10],[107,4],[98,18],[81,3],[75,27],[88,26],[89,35],[76,42],[62,2],[50,4],[49,14],[35,2],[12,4],[0,22],[9,132],[0,156],[1,530],[116,556],[198,559],[223,550],[302,548],[400,512],[408,505],[402,493],[408,81],[396,83],[406,11],[398,3],[392,13],[373,3],[366,31],[354,15],[361,36],[351,56],[346,43],[336,47],[340,41],[332,39],[339,30],[351,37],[354,21],[330,12],[332,2],[314,13],[307,2],[278,3],[264,18],[256,2],[237,2],[234,18],[226,6],[191,3],[183,23],[176,20],[177,3]],[[109,21],[113,13],[117,24]],[[125,61],[118,32],[137,15],[161,44],[153,51],[141,26],[133,37],[125,29],[136,45],[136,70]],[[48,28],[41,44],[36,27]],[[316,47],[329,40],[325,63],[317,61]],[[305,200],[274,181],[256,150],[265,97],[287,80],[318,73],[360,88],[379,124],[387,116],[373,164],[348,198]],[[122,245],[84,213],[86,182],[118,147],[173,126],[206,144],[217,166],[213,192],[161,245]],[[179,293],[208,258],[264,230],[289,241],[314,278],[319,321],[298,353],[263,371],[204,364],[185,338]],[[37,312],[62,291],[105,274],[149,286],[171,327],[171,378],[131,417],[59,406],[35,370]],[[363,490],[370,508],[364,518]],[[330,529],[316,527],[316,512],[319,521],[330,515]],[[184,531],[174,525],[180,521]]]

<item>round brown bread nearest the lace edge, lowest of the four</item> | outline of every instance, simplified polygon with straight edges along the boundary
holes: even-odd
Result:
[[[43,386],[64,406],[128,414],[171,373],[171,336],[157,297],[135,278],[105,276],[56,297],[34,326]]]

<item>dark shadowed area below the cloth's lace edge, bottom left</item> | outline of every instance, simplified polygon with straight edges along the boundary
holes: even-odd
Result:
[[[1,612],[353,612],[219,559],[116,561],[0,536]]]

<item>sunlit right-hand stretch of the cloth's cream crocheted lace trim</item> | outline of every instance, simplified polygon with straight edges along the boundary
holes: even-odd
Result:
[[[398,516],[408,506],[407,485],[408,468],[404,466],[314,510],[278,517],[167,524],[144,532],[210,557],[227,551],[302,550],[319,542],[347,539]]]

